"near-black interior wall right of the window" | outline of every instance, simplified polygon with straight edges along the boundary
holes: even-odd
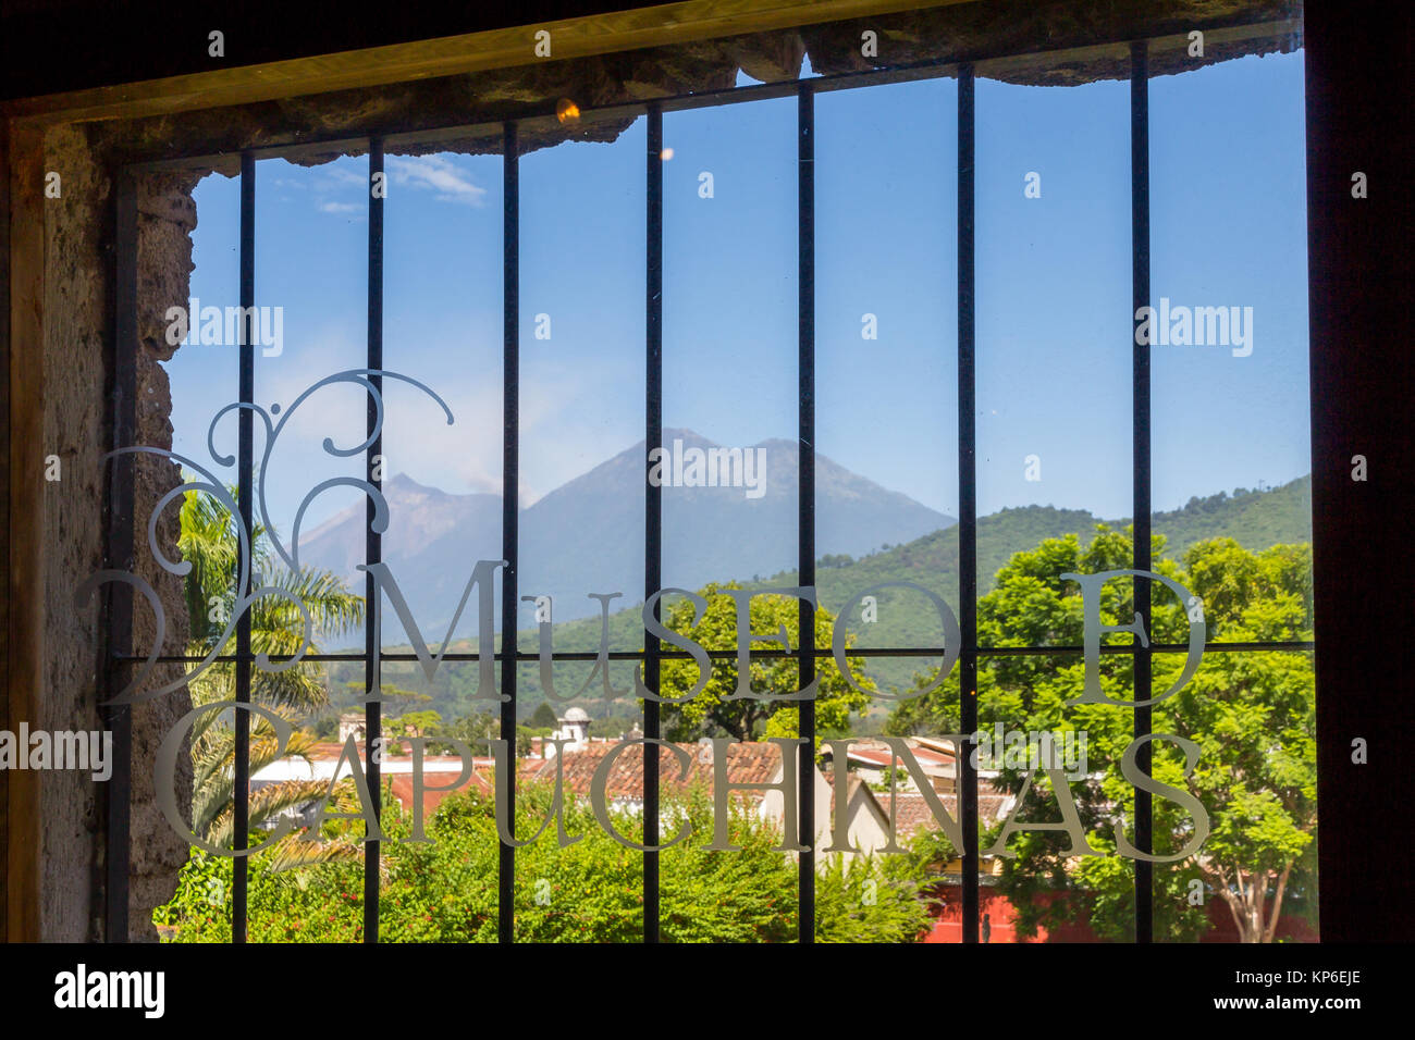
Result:
[[[1409,941],[1415,20],[1357,1],[1309,3],[1306,23],[1322,938]],[[1351,194],[1357,171],[1367,198]]]

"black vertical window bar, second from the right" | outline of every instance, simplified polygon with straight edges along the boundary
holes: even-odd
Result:
[[[958,655],[959,729],[978,729],[978,382],[974,272],[974,69],[958,67]],[[978,773],[958,758],[962,848],[962,938],[978,941]]]

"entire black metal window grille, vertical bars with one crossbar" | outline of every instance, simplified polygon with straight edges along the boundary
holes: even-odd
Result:
[[[1132,143],[1132,289],[1135,307],[1148,304],[1149,297],[1149,154],[1148,154],[1148,41],[1132,41],[1131,51],[1131,143]],[[699,105],[741,103],[747,100],[784,96],[795,92],[798,96],[798,382],[799,382],[799,413],[798,413],[798,565],[799,583],[804,586],[814,583],[814,443],[815,443],[815,357],[814,357],[814,93],[821,89],[850,89],[874,82],[890,82],[904,78],[942,76],[954,71],[958,78],[958,413],[959,413],[959,628],[962,632],[962,647],[959,654],[959,691],[961,691],[961,726],[965,733],[976,729],[976,665],[982,657],[1009,655],[1061,655],[1080,654],[1081,648],[1074,645],[1057,647],[979,647],[976,645],[976,424],[975,424],[975,197],[974,197],[974,141],[975,141],[975,92],[974,67],[971,62],[954,64],[944,61],[916,62],[907,68],[883,69],[874,72],[850,72],[832,76],[819,76],[795,85],[764,85],[760,88],[732,88],[729,91],[703,92],[692,98],[662,99],[641,105],[611,106],[616,110],[637,110],[648,116],[648,156],[647,156],[647,241],[645,241],[645,446],[651,447],[662,439],[662,112],[665,108],[696,108]],[[533,119],[535,116],[525,116]],[[467,129],[467,127],[457,127]],[[538,654],[519,652],[516,647],[516,563],[518,563],[518,526],[516,526],[516,487],[518,487],[518,451],[519,451],[519,181],[518,181],[518,120],[507,120],[501,125],[504,144],[504,243],[502,243],[502,276],[504,276],[504,473],[502,473],[502,553],[507,559],[502,584],[502,635],[501,647],[497,652],[501,659],[501,691],[507,700],[501,705],[501,737],[508,741],[508,747],[515,746],[515,716],[516,716],[516,669],[519,661],[536,661]],[[400,139],[405,137],[399,136]],[[368,139],[369,171],[382,171],[383,149],[386,139]],[[308,147],[308,146],[306,146]],[[241,154],[241,306],[243,321],[252,321],[255,303],[255,158],[256,154],[286,154],[289,147],[275,146],[270,149],[250,149]],[[200,161],[191,157],[178,160],[183,163]],[[136,341],[136,201],[133,191],[133,177],[147,170],[167,168],[170,161],[137,163],[125,167],[120,173],[119,191],[116,192],[117,212],[117,256],[116,256],[116,335],[115,335],[115,382],[113,382],[113,440],[115,447],[132,443],[134,433],[133,419],[133,365],[132,349]],[[368,299],[368,366],[378,369],[382,366],[382,231],[383,208],[382,198],[369,197],[369,299]],[[253,330],[245,330],[241,348],[239,393],[241,402],[249,405],[253,400]],[[376,376],[374,376],[376,379]],[[381,382],[381,381],[379,381]],[[1133,430],[1132,430],[1132,488],[1133,488],[1133,524],[1135,524],[1135,569],[1150,567],[1150,381],[1149,355],[1136,347],[1133,349]],[[369,412],[372,423],[372,409]],[[252,412],[249,408],[239,409],[239,447],[238,447],[238,495],[241,519],[250,525],[252,509]],[[369,427],[372,433],[372,426]],[[374,456],[379,453],[381,439],[371,443],[368,449],[368,478],[374,477]],[[648,466],[645,458],[645,467]],[[108,559],[113,566],[132,566],[132,499],[133,499],[133,461],[130,456],[120,456],[113,463],[110,475],[110,524]],[[126,505],[125,505],[126,502]],[[372,509],[372,505],[368,507]],[[366,553],[369,562],[381,559],[381,538],[369,531]],[[662,562],[662,498],[661,491],[652,485],[645,492],[645,596],[658,590]],[[372,579],[369,579],[372,584]],[[249,587],[238,590],[248,594]],[[368,610],[366,634],[368,645],[364,654],[314,654],[304,659],[310,662],[334,661],[364,661],[368,669],[376,669],[379,661],[413,661],[412,654],[382,654],[381,632],[378,632],[376,590],[368,589],[371,606]],[[1146,630],[1150,624],[1150,596],[1148,583],[1135,579],[1136,610],[1142,614]],[[109,652],[108,657],[115,665],[132,666],[146,658],[132,652],[132,603],[130,593],[123,587],[112,589],[106,600],[109,614]],[[829,648],[814,647],[814,610],[809,604],[801,606],[801,640],[794,651],[754,651],[756,655],[795,657],[799,662],[801,682],[807,683],[814,678],[815,659],[828,655]],[[1313,641],[1242,641],[1242,642],[1206,642],[1206,652],[1247,652],[1247,651],[1310,651]],[[1149,647],[1132,642],[1131,645],[1102,645],[1102,654],[1131,654],[1135,659],[1135,691],[1139,699],[1140,691],[1149,696],[1150,659],[1153,654],[1186,652],[1184,644],[1150,644]],[[941,647],[907,647],[907,648],[852,648],[852,655],[859,657],[935,657],[941,655]],[[593,661],[591,652],[558,652],[556,661]],[[664,651],[657,640],[645,634],[645,647],[640,652],[614,651],[608,654],[613,661],[638,661],[644,665],[645,681],[657,685],[659,662],[665,659],[686,659],[682,651]],[[730,658],[734,651],[709,651],[712,658]],[[201,658],[191,655],[161,655],[163,664],[195,662]],[[279,658],[275,658],[279,661]],[[449,662],[477,661],[478,654],[446,654]],[[243,617],[236,628],[236,652],[216,657],[218,662],[235,665],[236,672],[236,700],[249,703],[250,700],[250,666],[253,654],[250,651],[249,617]],[[375,686],[375,676],[368,671],[366,689]],[[113,669],[108,681],[110,691],[119,689],[120,671]],[[381,710],[378,702],[366,706],[365,736],[366,749],[378,739],[381,726]],[[130,709],[119,706],[106,712],[106,719],[115,730],[115,778],[122,775],[125,768],[130,768],[132,734]],[[814,743],[814,705],[801,703],[799,734],[804,740]],[[1135,736],[1150,732],[1149,709],[1136,709]],[[235,848],[246,846],[246,828],[249,824],[249,713],[236,712],[236,767],[235,767]],[[659,706],[648,700],[644,710],[645,737],[661,734]],[[799,838],[801,843],[814,845],[814,797],[809,787],[809,771],[814,761],[811,743],[801,746],[801,777],[799,777]],[[652,747],[652,746],[649,746]],[[368,774],[371,792],[375,799],[381,797],[378,790],[378,765],[368,754]],[[654,754],[645,754],[645,843],[657,843],[658,839],[658,802],[659,785],[657,770],[657,749]],[[515,760],[511,758],[514,763]],[[1142,749],[1138,761],[1143,771],[1149,771],[1149,749]],[[507,784],[507,797],[514,804],[515,774],[499,778]],[[123,790],[110,785],[113,791]],[[961,825],[964,828],[964,873],[962,873],[962,931],[965,942],[978,941],[978,777],[966,756],[959,763],[959,801]],[[110,798],[106,809],[109,856],[106,862],[106,910],[105,924],[109,941],[123,941],[127,934],[127,869],[130,863],[129,833],[129,805],[126,799]],[[1136,846],[1142,850],[1150,849],[1152,842],[1152,804],[1148,794],[1136,791]],[[364,904],[364,938],[368,942],[378,940],[378,842],[368,842],[365,857],[365,904]],[[243,942],[248,932],[248,883],[249,863],[246,856],[233,860],[233,890],[232,890],[232,941]],[[815,910],[815,865],[814,852],[802,853],[798,866],[799,891],[799,923],[798,937],[802,942],[814,941],[814,910]],[[659,872],[658,853],[644,853],[644,941],[658,941],[659,925]],[[1153,938],[1152,917],[1152,866],[1143,862],[1135,863],[1135,891],[1136,891],[1136,941],[1149,942]],[[514,940],[515,914],[515,853],[514,848],[502,843],[498,862],[498,940],[509,942]]]

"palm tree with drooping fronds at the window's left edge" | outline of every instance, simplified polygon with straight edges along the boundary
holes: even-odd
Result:
[[[231,490],[235,499],[235,490]],[[236,518],[221,501],[198,491],[188,491],[181,507],[178,549],[191,563],[184,594],[191,624],[188,654],[202,657],[218,649],[236,600],[239,536]],[[364,599],[351,593],[335,574],[314,569],[291,572],[277,566],[266,529],[253,525],[252,587],[275,586],[304,604],[316,632],[342,631],[364,618]],[[267,594],[250,607],[250,648],[272,658],[293,657],[304,640],[304,617],[289,599]],[[232,647],[219,649],[229,652]],[[313,644],[306,648],[317,654]],[[280,672],[256,669],[250,681],[250,700],[294,727],[297,719],[328,703],[323,668],[306,662]],[[231,700],[235,696],[235,668],[229,662],[212,664],[188,683],[194,705]],[[272,722],[250,713],[250,773],[259,773],[280,758],[308,761],[314,737],[294,730],[283,751]],[[235,809],[236,734],[232,712],[211,712],[192,729],[192,831],[212,845],[229,845]],[[358,811],[350,785],[341,784],[335,801],[341,811]],[[284,811],[323,798],[327,784],[317,780],[290,780],[253,791],[249,799],[250,826],[256,828]],[[350,802],[354,802],[352,805]],[[270,867],[282,870],[328,859],[357,857],[354,840],[308,842],[297,833],[286,835],[272,846]]]

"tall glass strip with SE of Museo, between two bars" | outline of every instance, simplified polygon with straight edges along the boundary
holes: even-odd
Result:
[[[664,586],[790,586],[797,567],[797,102],[669,112],[664,146],[672,149],[664,168]],[[708,603],[710,624],[695,637],[710,649],[732,649],[732,600],[716,593]],[[761,630],[797,631],[794,599],[757,604]],[[671,628],[688,628],[692,606],[665,600],[664,614]],[[691,661],[665,662],[662,671],[665,695],[686,695],[698,681]],[[751,671],[756,692],[799,688],[794,662],[754,659]],[[705,737],[743,741],[729,757],[733,782],[774,780],[777,747],[754,741],[778,734],[773,722],[781,726],[788,716],[774,716],[790,703],[723,702],[737,682],[730,658],[715,662],[712,676],[693,702],[664,706],[665,737],[695,763],[689,785],[710,781],[712,758],[695,746]],[[696,826],[689,842],[661,856],[664,938],[794,940],[794,863],[770,852],[781,839],[781,811],[771,812],[778,802],[743,791],[747,811],[737,814],[732,840],[749,852],[706,853],[710,811],[700,815],[688,794],[676,784],[665,790],[665,839],[678,833],[685,814]],[[726,884],[726,872],[739,870],[760,872],[760,883]],[[700,884],[703,872],[716,883]]]

